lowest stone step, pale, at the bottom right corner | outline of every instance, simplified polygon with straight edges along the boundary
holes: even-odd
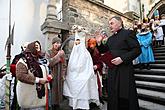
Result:
[[[165,106],[139,99],[140,110],[165,110]]]

